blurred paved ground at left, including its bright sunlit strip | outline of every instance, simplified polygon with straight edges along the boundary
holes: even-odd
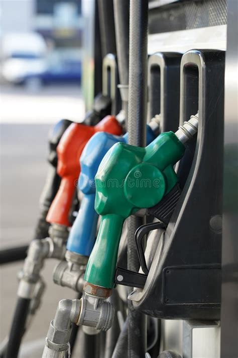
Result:
[[[80,120],[80,111],[83,113],[78,88],[48,88],[34,95],[21,91],[1,89],[1,247],[29,243],[32,238],[47,171],[50,125],[46,123],[62,117]],[[71,290],[52,284],[55,263],[49,260],[45,265],[44,304],[24,338],[21,357],[41,357],[44,337],[59,299],[75,298]],[[18,263],[0,268],[0,341],[9,331],[16,302],[16,275],[21,267],[22,263]]]

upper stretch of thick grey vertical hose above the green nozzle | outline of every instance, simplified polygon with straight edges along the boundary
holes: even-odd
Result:
[[[146,145],[148,0],[131,0],[129,50],[129,143]]]

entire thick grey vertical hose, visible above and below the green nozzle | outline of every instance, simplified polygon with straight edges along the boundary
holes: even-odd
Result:
[[[146,145],[147,106],[147,34],[148,0],[130,2],[130,50],[129,50],[129,144]],[[130,217],[128,222],[128,268],[138,271],[139,260],[135,247],[135,231],[139,220]],[[135,311],[132,301],[128,303],[128,357],[145,357],[146,316]]]

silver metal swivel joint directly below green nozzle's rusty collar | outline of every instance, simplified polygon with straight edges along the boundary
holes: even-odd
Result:
[[[110,302],[84,294],[81,298],[81,312],[76,324],[107,331],[112,325],[113,317],[114,308]]]

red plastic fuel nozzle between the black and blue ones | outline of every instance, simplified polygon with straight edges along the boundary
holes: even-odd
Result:
[[[114,116],[106,116],[95,126],[72,123],[60,139],[57,147],[57,173],[62,179],[48,211],[47,222],[71,226],[68,217],[80,174],[79,159],[87,141],[96,132],[120,135],[122,126]]]

